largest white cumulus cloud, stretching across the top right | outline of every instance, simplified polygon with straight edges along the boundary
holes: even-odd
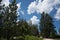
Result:
[[[42,13],[43,11],[45,13],[50,13],[53,8],[57,8],[56,5],[60,4],[60,0],[36,0],[34,2],[31,2],[31,4],[28,6],[28,14],[37,12]]]

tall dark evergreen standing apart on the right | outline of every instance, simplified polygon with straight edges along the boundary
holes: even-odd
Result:
[[[40,31],[41,31],[41,35],[46,38],[54,37],[56,34],[52,17],[44,12],[41,14]]]

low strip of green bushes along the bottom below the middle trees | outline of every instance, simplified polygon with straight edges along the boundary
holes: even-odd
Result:
[[[42,40],[43,38],[39,38],[37,36],[30,36],[30,35],[25,35],[25,36],[16,36],[13,37],[11,40]]]

